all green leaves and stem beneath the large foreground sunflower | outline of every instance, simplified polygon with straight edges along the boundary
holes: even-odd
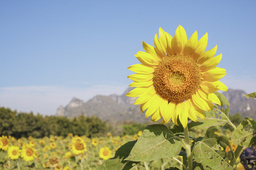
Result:
[[[183,165],[183,169],[187,169],[185,168],[187,165],[190,167],[189,170],[236,169],[236,160],[243,148],[256,145],[256,122],[249,117],[241,122],[241,114],[229,118],[229,101],[224,95],[218,92],[215,94],[220,99],[221,105],[216,104],[212,111],[204,112],[205,120],[199,118],[197,122],[191,121],[186,129],[181,125],[172,125],[170,128],[164,125],[147,126],[138,141],[134,142],[134,146],[130,148],[130,145],[129,151],[123,151],[127,158],[119,159],[116,155],[110,159],[111,162],[117,163],[118,167],[124,167],[127,163],[125,161],[151,162],[174,159],[179,162],[175,158],[179,155],[183,156],[183,163],[179,162]],[[232,136],[222,134],[224,131],[221,131],[221,127],[225,128],[225,124],[229,124],[234,129]],[[193,131],[197,130],[205,130],[204,137],[188,136],[193,135]],[[238,145],[235,152],[230,139],[233,144]],[[114,164],[110,164],[110,160],[102,164],[101,168],[118,169],[114,168]],[[173,166],[168,169],[177,168]]]

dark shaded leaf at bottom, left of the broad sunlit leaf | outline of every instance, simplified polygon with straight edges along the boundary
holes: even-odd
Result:
[[[127,142],[125,145],[119,147],[117,152],[115,152],[114,158],[106,160],[95,170],[127,170],[133,168],[139,162],[133,162],[125,159],[130,154],[131,149],[134,147],[136,142],[137,141]]]

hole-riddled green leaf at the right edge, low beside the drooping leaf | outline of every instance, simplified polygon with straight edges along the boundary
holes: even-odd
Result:
[[[241,124],[234,130],[232,134],[232,142],[235,145],[250,147],[255,145],[256,122],[249,117],[245,117]]]

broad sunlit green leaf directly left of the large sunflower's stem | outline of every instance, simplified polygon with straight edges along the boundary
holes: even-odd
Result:
[[[147,126],[125,160],[148,162],[172,158],[179,154],[182,143],[164,125]]]

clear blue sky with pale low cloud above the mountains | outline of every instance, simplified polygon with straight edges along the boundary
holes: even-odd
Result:
[[[1,1],[0,106],[55,114],[72,97],[122,94],[142,41],[179,24],[218,45],[222,82],[254,92],[255,11],[256,1]]]

